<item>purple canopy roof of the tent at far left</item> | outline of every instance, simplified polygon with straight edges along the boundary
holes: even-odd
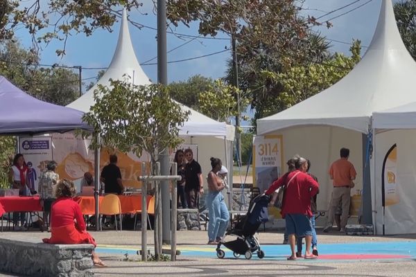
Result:
[[[83,112],[37,100],[0,76],[0,134],[41,134],[91,129]]]

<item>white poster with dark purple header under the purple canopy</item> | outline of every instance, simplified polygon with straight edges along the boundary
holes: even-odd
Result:
[[[28,166],[28,188],[37,190],[40,173],[46,170],[46,165],[53,159],[51,136],[19,137],[19,150]]]

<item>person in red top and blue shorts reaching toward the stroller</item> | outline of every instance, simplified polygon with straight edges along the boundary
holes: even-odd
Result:
[[[289,244],[291,244],[291,256],[288,260],[296,260],[295,236],[305,237],[306,250],[305,259],[315,259],[317,256],[311,253],[312,224],[311,224],[311,197],[318,193],[319,184],[306,171],[306,159],[299,157],[295,161],[296,170],[287,175],[287,183],[276,181],[273,186],[266,190],[267,195],[271,195],[279,186],[286,185],[284,202],[281,215],[286,220],[286,232],[288,233]]]

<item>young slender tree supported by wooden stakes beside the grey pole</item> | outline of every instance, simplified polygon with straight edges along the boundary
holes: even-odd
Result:
[[[100,145],[134,152],[138,157],[145,150],[151,159],[150,174],[155,175],[159,154],[182,142],[178,137],[180,126],[187,121],[190,112],[182,111],[180,104],[169,96],[167,87],[111,80],[111,89],[98,84],[94,99],[96,103],[83,116],[83,120],[94,127],[94,149],[99,147],[96,140],[99,136]],[[158,188],[155,191],[159,193]],[[156,195],[155,207],[159,205]],[[159,217],[159,213],[156,216]],[[162,242],[158,236],[161,226],[157,222],[155,218],[155,256],[159,259]]]

